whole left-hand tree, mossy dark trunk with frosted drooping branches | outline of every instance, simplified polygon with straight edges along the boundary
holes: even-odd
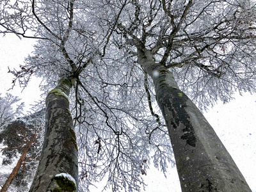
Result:
[[[143,74],[134,70],[134,65],[127,68],[122,63],[100,61],[100,49],[105,47],[107,37],[100,26],[94,26],[95,20],[87,17],[97,14],[97,10],[89,12],[86,1],[32,1],[31,4],[17,1],[3,3],[3,7],[3,33],[40,39],[26,64],[20,65],[20,70],[11,71],[15,76],[13,83],[19,81],[24,86],[33,75],[43,77],[42,89],[45,95],[48,94],[43,154],[31,190],[60,189],[61,178],[67,179],[67,185],[71,184],[74,189],[70,178],[77,179],[76,170],[73,170],[77,159],[75,135],[70,134],[72,119],[67,110],[69,89],[71,113],[79,136],[81,191],[88,190],[92,182],[104,176],[108,177],[106,187],[111,185],[113,190],[140,189],[140,184],[144,183],[141,175],[147,173],[150,148],[154,150],[155,163],[165,171],[164,163],[172,161],[170,142],[164,136],[166,131],[162,132],[162,138],[152,134],[151,142],[148,141],[148,127],[161,129],[163,124],[156,123],[148,115],[143,104],[144,92],[135,92],[136,87],[143,88],[143,82],[138,81],[138,76]],[[59,85],[56,86],[57,82]],[[134,95],[138,96],[136,100]],[[138,113],[138,106],[141,113]],[[65,122],[60,124],[62,120]],[[63,132],[56,134],[60,130]],[[64,145],[67,141],[70,145]],[[74,153],[69,152],[69,147]],[[58,150],[60,148],[63,150]],[[60,159],[63,153],[67,156],[63,161],[70,167],[53,161]],[[65,177],[64,173],[71,177]],[[40,179],[44,175],[47,177]],[[43,180],[44,185],[40,184]],[[44,186],[49,188],[42,189]]]

